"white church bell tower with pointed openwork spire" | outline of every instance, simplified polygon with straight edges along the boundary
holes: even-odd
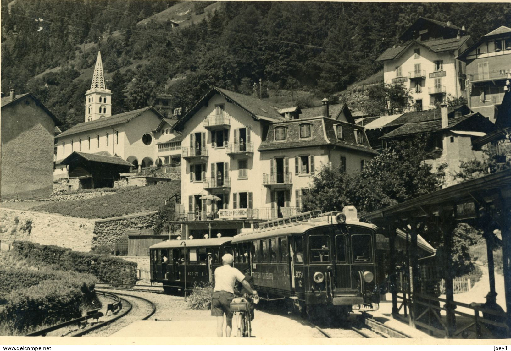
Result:
[[[85,122],[112,115],[112,92],[106,88],[101,52],[98,51],[96,67],[90,89],[85,93]]]

